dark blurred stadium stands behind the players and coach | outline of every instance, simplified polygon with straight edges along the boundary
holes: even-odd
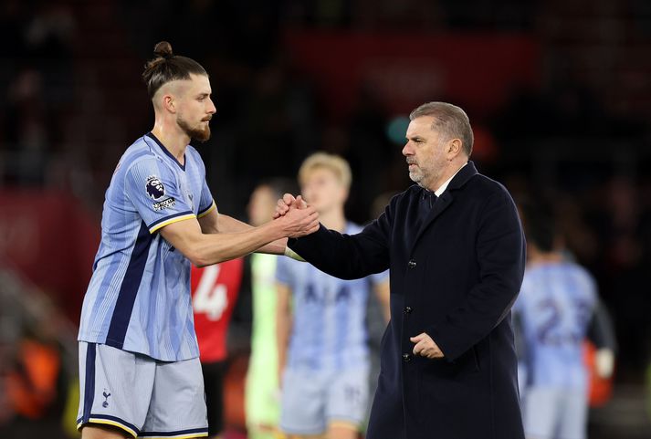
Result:
[[[614,319],[614,392],[591,412],[590,437],[651,437],[651,3],[4,0],[3,438],[59,437],[103,194],[121,152],[152,127],[140,75],[162,39],[211,75],[213,138],[198,148],[219,209],[242,219],[256,183],[293,177],[325,150],[352,163],[347,213],[364,223],[410,184],[409,110],[466,109],[480,172],[517,199],[551,200]],[[26,339],[49,340],[58,372],[16,416],[7,386]],[[246,360],[236,364],[234,377]],[[234,432],[239,412],[228,413]]]

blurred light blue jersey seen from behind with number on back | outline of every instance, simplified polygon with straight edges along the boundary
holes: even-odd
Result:
[[[523,387],[586,388],[583,341],[596,298],[593,277],[572,262],[525,269],[513,306],[526,351]]]

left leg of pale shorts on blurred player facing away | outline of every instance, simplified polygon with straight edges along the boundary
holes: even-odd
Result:
[[[524,433],[528,439],[554,437],[560,422],[562,390],[546,387],[530,387],[522,404]]]

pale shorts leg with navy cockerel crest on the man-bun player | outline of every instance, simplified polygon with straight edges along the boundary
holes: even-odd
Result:
[[[150,405],[155,361],[103,344],[79,342],[78,428],[116,427],[135,437]],[[93,432],[94,429],[89,429]]]

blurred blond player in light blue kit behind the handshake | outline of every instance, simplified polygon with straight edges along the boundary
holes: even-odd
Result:
[[[347,162],[322,152],[299,170],[301,193],[321,222],[347,234],[362,230],[343,213],[351,178]],[[377,294],[388,307],[388,272],[341,280],[281,259],[276,277],[280,430],[291,437],[356,438],[369,401],[367,301]]]

